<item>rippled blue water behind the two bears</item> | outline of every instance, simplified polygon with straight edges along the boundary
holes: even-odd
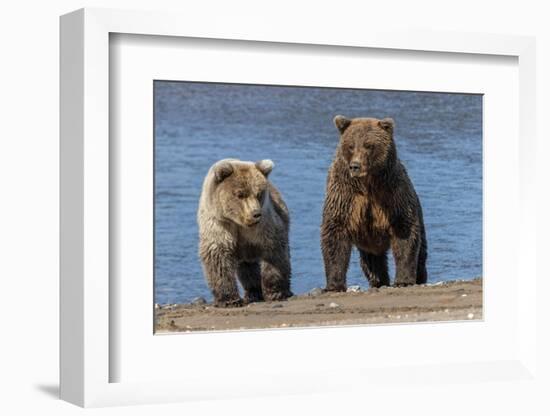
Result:
[[[336,114],[394,118],[424,210],[429,280],[481,275],[481,95],[156,81],[154,96],[156,303],[212,299],[196,209],[208,168],[228,157],[275,162],[270,179],[291,213],[292,290],[324,287],[319,226]],[[356,252],[354,284],[368,287]]]

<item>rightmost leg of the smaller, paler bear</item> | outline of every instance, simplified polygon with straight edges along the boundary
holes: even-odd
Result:
[[[290,290],[290,256],[264,258],[261,262],[262,292],[265,300],[285,300]]]

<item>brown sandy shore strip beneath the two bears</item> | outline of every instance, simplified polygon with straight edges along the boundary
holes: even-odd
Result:
[[[165,305],[155,318],[157,333],[481,319],[482,280],[305,294],[241,308]]]

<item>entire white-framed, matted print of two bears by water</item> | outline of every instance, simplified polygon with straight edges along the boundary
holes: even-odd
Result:
[[[533,39],[232,28],[61,19],[62,398],[537,383]]]

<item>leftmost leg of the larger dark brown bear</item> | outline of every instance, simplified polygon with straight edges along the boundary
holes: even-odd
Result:
[[[325,275],[329,292],[345,292],[346,273],[351,256],[351,241],[342,230],[323,223],[321,226],[321,251],[325,263]]]

